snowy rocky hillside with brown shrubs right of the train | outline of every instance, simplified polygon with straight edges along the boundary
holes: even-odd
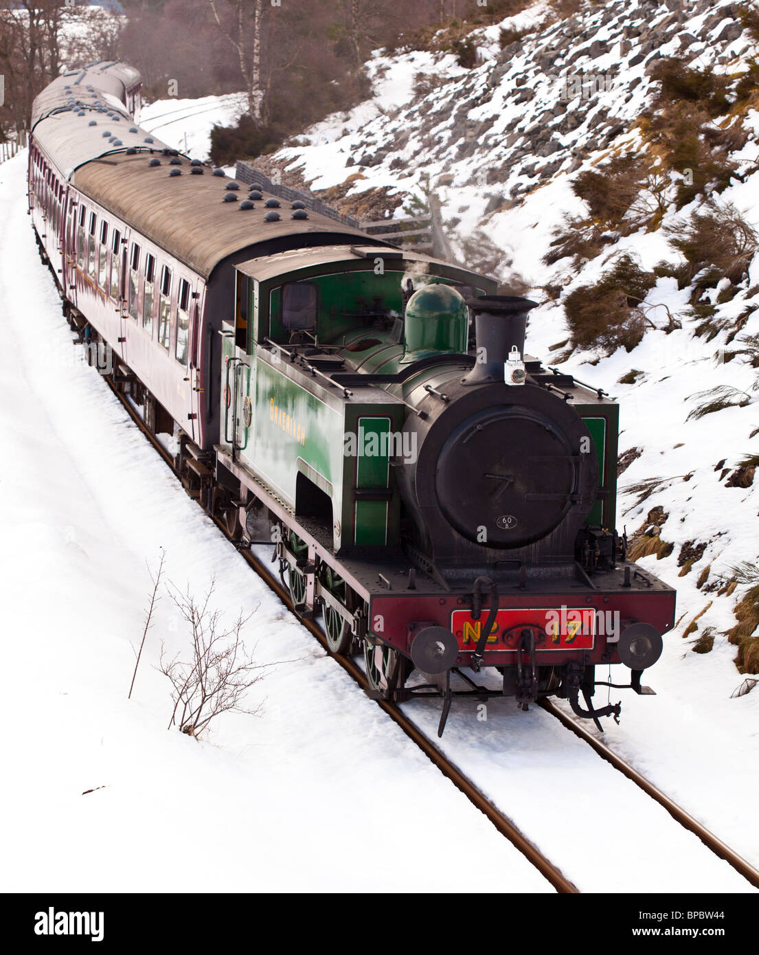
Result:
[[[362,218],[434,196],[453,255],[541,303],[530,350],[622,402],[618,525],[673,639],[757,673],[759,12],[578,6],[474,31],[471,68],[376,53],[373,98],[268,166]]]

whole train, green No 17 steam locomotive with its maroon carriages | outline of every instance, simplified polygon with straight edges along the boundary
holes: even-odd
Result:
[[[372,695],[442,696],[438,732],[467,693],[618,717],[596,667],[649,692],[675,594],[614,530],[616,402],[525,354],[535,303],[264,178],[242,195],[137,125],[139,89],[104,62],[36,98],[29,210],[188,493],[273,543]]]

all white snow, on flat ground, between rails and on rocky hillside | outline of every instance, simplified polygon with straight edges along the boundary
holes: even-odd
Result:
[[[561,76],[602,73],[619,61],[622,26],[640,19],[629,13],[634,5],[618,6],[624,15],[616,24],[608,14],[602,20],[602,11],[587,21],[597,23],[593,39],[607,39],[610,52],[568,66],[559,57],[556,76],[541,71],[537,58],[559,37],[561,23],[544,27],[534,39],[526,37],[523,52],[500,66],[497,27],[478,31],[484,62],[473,71],[462,70],[450,54],[375,53],[369,62],[375,95],[348,113],[327,117],[277,158],[283,166],[299,168],[314,188],[342,183],[361,169],[365,178],[356,181],[356,190],[390,185],[421,197],[425,177],[435,183],[443,174],[453,175],[453,184],[439,184],[436,192],[444,218],[458,220],[450,225],[456,249],[481,229],[503,250],[499,274],[516,271],[536,289],[592,283],[622,251],[636,255],[645,268],[664,258],[675,261],[658,230],[623,238],[579,273],[570,272],[567,261],[540,262],[561,217],[582,212],[570,176],[609,155],[608,149],[586,148],[594,136],[593,112],[606,105],[610,118],[628,123],[636,117],[651,93],[644,63],[625,67],[611,88],[598,94],[580,125],[560,137],[559,152],[542,160],[561,159],[556,173],[523,202],[484,212],[495,192],[506,197],[515,185],[534,180],[521,170],[523,162],[512,161],[519,143],[508,138],[556,104]],[[674,49],[682,32],[706,35],[706,17],[722,6],[727,0],[706,13],[685,11],[664,52]],[[519,17],[538,22],[542,11],[536,5]],[[657,18],[663,15],[664,10]],[[718,24],[709,33],[718,35],[721,29]],[[640,40],[631,38],[625,59],[638,52]],[[699,63],[716,62],[718,70],[738,72],[740,61],[721,63],[720,57],[739,49],[740,41],[722,51],[718,44],[697,43],[687,53]],[[491,71],[502,67],[505,72],[489,88]],[[532,71],[536,96],[518,103],[515,80],[525,69]],[[413,90],[419,73],[435,80],[432,92],[421,99]],[[635,77],[641,82],[624,102]],[[490,98],[483,96],[488,89]],[[241,96],[161,100],[143,109],[141,122],[181,149],[186,135],[190,155],[204,159],[212,125],[235,121]],[[462,132],[453,107],[467,100],[468,119],[494,122],[474,153],[459,157]],[[436,124],[423,129],[432,116]],[[759,113],[749,114],[747,129],[755,140]],[[409,133],[400,147],[398,130]],[[627,148],[637,141],[625,127],[613,146]],[[380,150],[387,155],[376,165],[347,164],[351,157]],[[0,218],[6,223],[0,234],[4,665],[27,677],[5,688],[6,711],[15,714],[16,723],[8,733],[5,764],[11,784],[0,806],[17,824],[3,837],[8,864],[0,885],[6,891],[124,891],[135,885],[144,891],[305,891],[327,882],[332,890],[456,891],[461,871],[469,871],[476,858],[490,890],[550,891],[325,657],[186,498],[95,371],[73,357],[52,279],[38,262],[25,215],[25,155],[0,166]],[[574,155],[581,164],[569,174]],[[749,141],[733,158],[748,170],[757,155],[759,146]],[[391,170],[398,156],[404,165]],[[505,169],[505,178],[489,184],[494,168]],[[733,180],[721,198],[734,202],[759,227],[757,176],[744,183]],[[664,223],[673,218],[667,213]],[[748,294],[757,276],[759,256],[749,282],[718,307],[718,316],[734,317],[759,302]],[[674,280],[660,279],[646,299],[649,317],[664,326],[664,307],[682,313],[688,295],[689,289],[678,290]],[[27,331],[31,324],[33,334]],[[759,310],[741,332],[756,333]],[[532,353],[550,358],[549,347],[566,337],[560,303],[546,303],[532,313]],[[759,561],[757,487],[726,488],[720,470],[715,471],[722,458],[732,468],[741,456],[757,451],[756,438],[748,439],[757,426],[755,371],[739,358],[722,360],[726,339],[726,332],[710,342],[696,338],[693,325],[684,322],[670,334],[649,330],[630,353],[577,353],[564,367],[620,399],[620,451],[643,449],[621,477],[619,529],[635,530],[660,504],[669,515],[662,535],[675,543],[670,557],[643,559],[678,590],[677,626],[665,636],[663,657],[644,679],[658,695],[612,690],[613,702],[622,699],[622,723],[605,721],[605,742],[759,867],[759,834],[750,817],[759,782],[759,690],[732,696],[743,677],[733,663],[735,647],[723,635],[736,622],[732,610],[745,587],[718,597],[696,586],[706,564],[712,565],[714,580],[728,576],[738,562]],[[619,384],[631,369],[643,375],[633,385]],[[686,420],[694,395],[717,385],[741,389],[751,403]],[[636,505],[636,496],[624,488],[651,477],[662,477],[663,484]],[[685,541],[707,546],[701,561],[680,577],[677,559]],[[166,549],[168,576],[177,584],[190,582],[200,591],[215,575],[221,608],[234,614],[258,605],[248,646],[256,647],[262,663],[287,661],[269,668],[251,690],[251,702],[263,703],[260,716],[222,717],[202,742],[166,731],[168,684],[154,665],[161,640],[175,650],[182,639],[167,597],[158,605],[135,694],[126,700],[150,588],[145,564],[156,567],[160,547]],[[709,602],[694,636],[713,626],[714,647],[699,655],[690,650],[692,638],[684,640],[682,634]],[[604,676],[600,670],[598,678]],[[601,703],[601,690],[597,700]],[[434,735],[438,703],[414,700],[404,710]],[[580,889],[748,891],[748,883],[726,863],[548,714],[534,708],[516,711],[511,700],[490,701],[485,722],[478,712],[475,704],[454,702],[443,751]],[[99,786],[104,788],[81,795]],[[198,831],[199,814],[208,824],[196,837],[197,847],[188,834]],[[446,865],[408,867],[383,853],[389,820],[398,819],[413,850],[438,845],[444,833]],[[462,832],[466,838],[457,838]],[[88,839],[86,856],[82,834]],[[179,846],[187,852],[207,850],[211,840],[213,865],[192,872],[176,865]]]

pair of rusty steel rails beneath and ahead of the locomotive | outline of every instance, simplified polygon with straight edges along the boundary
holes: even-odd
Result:
[[[143,435],[145,435],[145,437],[147,437],[153,447],[158,451],[158,454],[161,456],[164,462],[176,475],[177,472],[174,466],[174,458],[160,444],[156,435],[154,435],[145,425],[139,414],[137,414],[133,406],[129,403],[129,401],[127,401],[126,397],[117,390],[116,384],[108,376],[104,376],[104,380],[108,384],[108,387],[112,393],[115,394],[116,399],[119,401],[121,406],[135,422],[137,428],[142,432]],[[233,541],[230,537],[223,522],[218,518],[212,518],[212,520],[214,520],[214,523],[220,529],[224,537],[234,545],[235,541]],[[304,620],[296,613],[289,591],[270,573],[267,572],[262,563],[259,562],[255,555],[253,555],[249,550],[241,548],[237,549],[245,562],[248,563],[255,573],[264,581],[264,583],[278,596],[287,609],[293,613],[294,616],[298,617],[299,622],[305,626],[309,633],[319,642],[327,655],[332,657],[343,669],[345,669],[349,676],[356,682],[356,684],[358,684],[359,687],[361,687],[362,690],[368,690],[369,681],[367,680],[363,670],[359,668],[350,657],[340,656],[332,653],[329,650],[329,647],[327,647],[327,640],[321,627],[318,626],[314,621]],[[432,743],[432,740],[426,736],[424,732],[420,731],[419,728],[413,722],[411,722],[411,720],[402,711],[400,711],[395,704],[389,703],[385,700],[376,700],[375,702],[383,711],[388,714],[388,716],[390,716],[390,719],[393,720],[393,722],[416,744],[416,746],[428,756],[437,769],[443,775],[445,775],[453,783],[453,785],[464,794],[464,796],[470,800],[474,807],[476,807],[493,823],[495,829],[504,838],[507,838],[515,846],[517,851],[538,869],[538,872],[540,872],[541,875],[547,881],[549,881],[551,885],[553,885],[559,894],[577,894],[580,892],[578,887],[564,875],[559,867],[550,859],[548,859],[533,842],[526,838],[524,834],[517,828],[515,823],[503,812],[501,812],[486,796],[484,796],[474,785],[474,782],[464,775],[444,755],[444,753],[441,753],[437,746]],[[713,852],[720,859],[727,861],[727,863],[733,869],[735,869],[736,872],[743,876],[743,878],[746,879],[751,885],[759,888],[759,871],[750,865],[746,859],[743,859],[721,839],[714,836],[713,833],[706,829],[706,826],[702,825],[697,819],[690,816],[681,806],[674,802],[674,800],[672,800],[669,796],[666,796],[634,767],[622,759],[621,756],[611,751],[604,743],[597,739],[592,732],[583,727],[578,720],[573,719],[571,716],[559,710],[559,708],[550,701],[543,700],[539,705],[544,711],[558,719],[559,722],[561,722],[561,724],[568,730],[578,735],[580,739],[587,743],[596,753],[601,756],[602,759],[610,763],[616,770],[622,773],[622,775],[630,779],[636,786],[642,789],[647,796],[650,796],[657,803],[659,803],[671,817],[673,817],[689,832],[701,839],[701,841],[711,852]]]

